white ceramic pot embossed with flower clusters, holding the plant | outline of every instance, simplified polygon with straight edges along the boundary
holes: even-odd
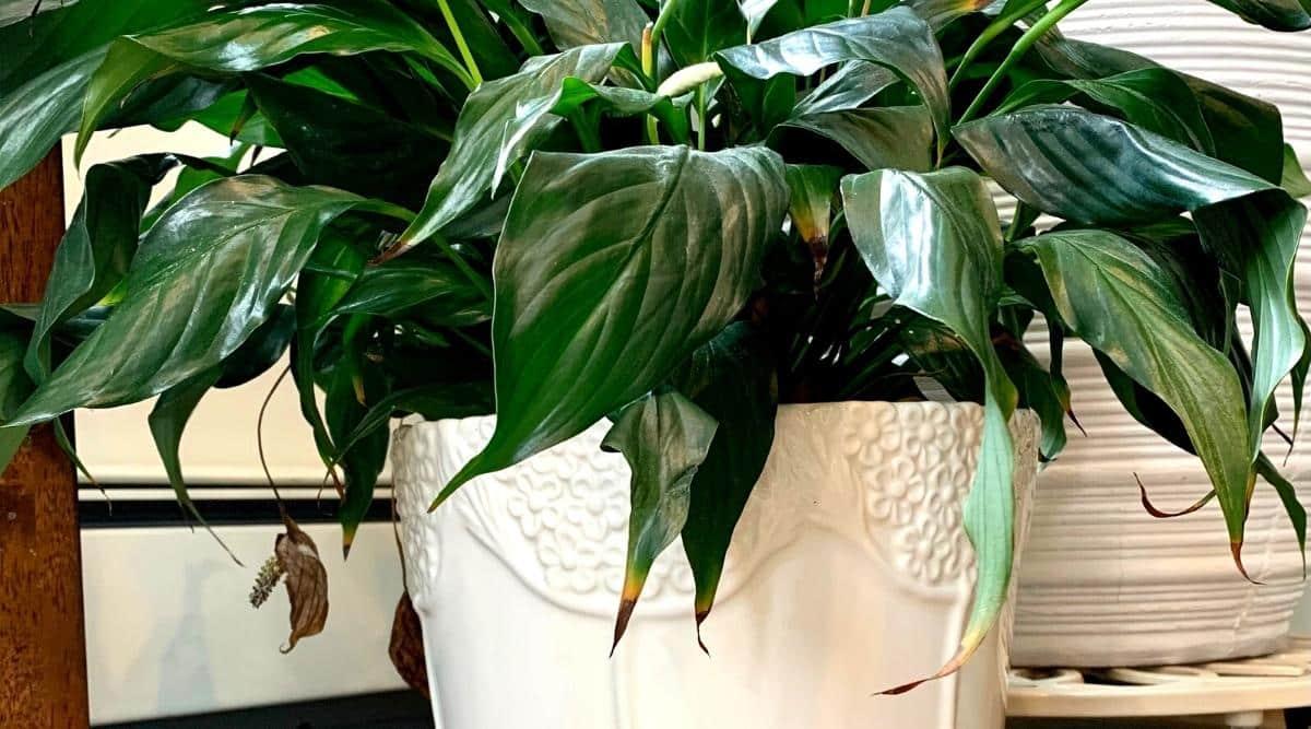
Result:
[[[960,641],[973,581],[960,513],[981,422],[974,405],[781,408],[705,623],[711,656],[696,645],[675,544],[614,658],[629,472],[600,452],[606,426],[473,481],[431,514],[493,420],[404,427],[396,489],[438,726],[999,729],[995,636],[956,677],[872,695],[931,674]],[[1034,420],[1021,413],[1013,430],[1023,514]]]

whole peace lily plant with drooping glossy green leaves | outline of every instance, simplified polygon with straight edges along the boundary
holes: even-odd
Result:
[[[1213,1],[1311,26],[1308,0]],[[132,125],[236,143],[84,170],[45,299],[3,320],[3,456],[159,396],[190,507],[187,417],[290,349],[349,547],[392,417],[498,416],[434,507],[610,417],[633,467],[621,633],[679,535],[709,612],[780,403],[945,389],[986,413],[945,675],[1011,580],[1008,418],[1037,412],[1059,454],[1074,336],[1201,459],[1242,569],[1255,488],[1306,527],[1261,442],[1295,430],[1274,392],[1301,404],[1311,363],[1308,185],[1273,106],[1062,37],[1083,3],[0,0],[0,186],[66,132],[79,156]]]

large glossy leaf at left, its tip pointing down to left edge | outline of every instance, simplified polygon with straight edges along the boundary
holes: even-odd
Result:
[[[323,227],[361,202],[261,176],[199,187],[151,228],[123,302],[13,422],[135,403],[216,366],[274,311]]]

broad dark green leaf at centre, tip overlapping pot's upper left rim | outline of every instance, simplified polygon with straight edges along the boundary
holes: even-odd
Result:
[[[497,429],[438,501],[663,382],[746,303],[787,206],[767,149],[536,153],[494,264]]]

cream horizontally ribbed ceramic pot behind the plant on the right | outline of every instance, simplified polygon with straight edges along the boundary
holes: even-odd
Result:
[[[1105,0],[1061,28],[1277,104],[1286,140],[1311,161],[1311,33],[1270,33],[1200,0]],[[1308,254],[1303,248],[1298,270],[1303,312],[1311,312]],[[1072,431],[1041,477],[1020,576],[1016,665],[1192,662],[1280,648],[1303,583],[1274,492],[1257,485],[1247,527],[1244,561],[1257,586],[1234,569],[1218,507],[1159,521],[1139,505],[1135,473],[1158,506],[1183,509],[1210,488],[1202,468],[1125,414],[1087,347],[1071,342],[1065,367],[1088,437]],[[1286,388],[1280,409],[1289,426]],[[1287,450],[1273,437],[1266,447],[1276,463]],[[1285,472],[1311,503],[1306,452],[1299,444]]]

